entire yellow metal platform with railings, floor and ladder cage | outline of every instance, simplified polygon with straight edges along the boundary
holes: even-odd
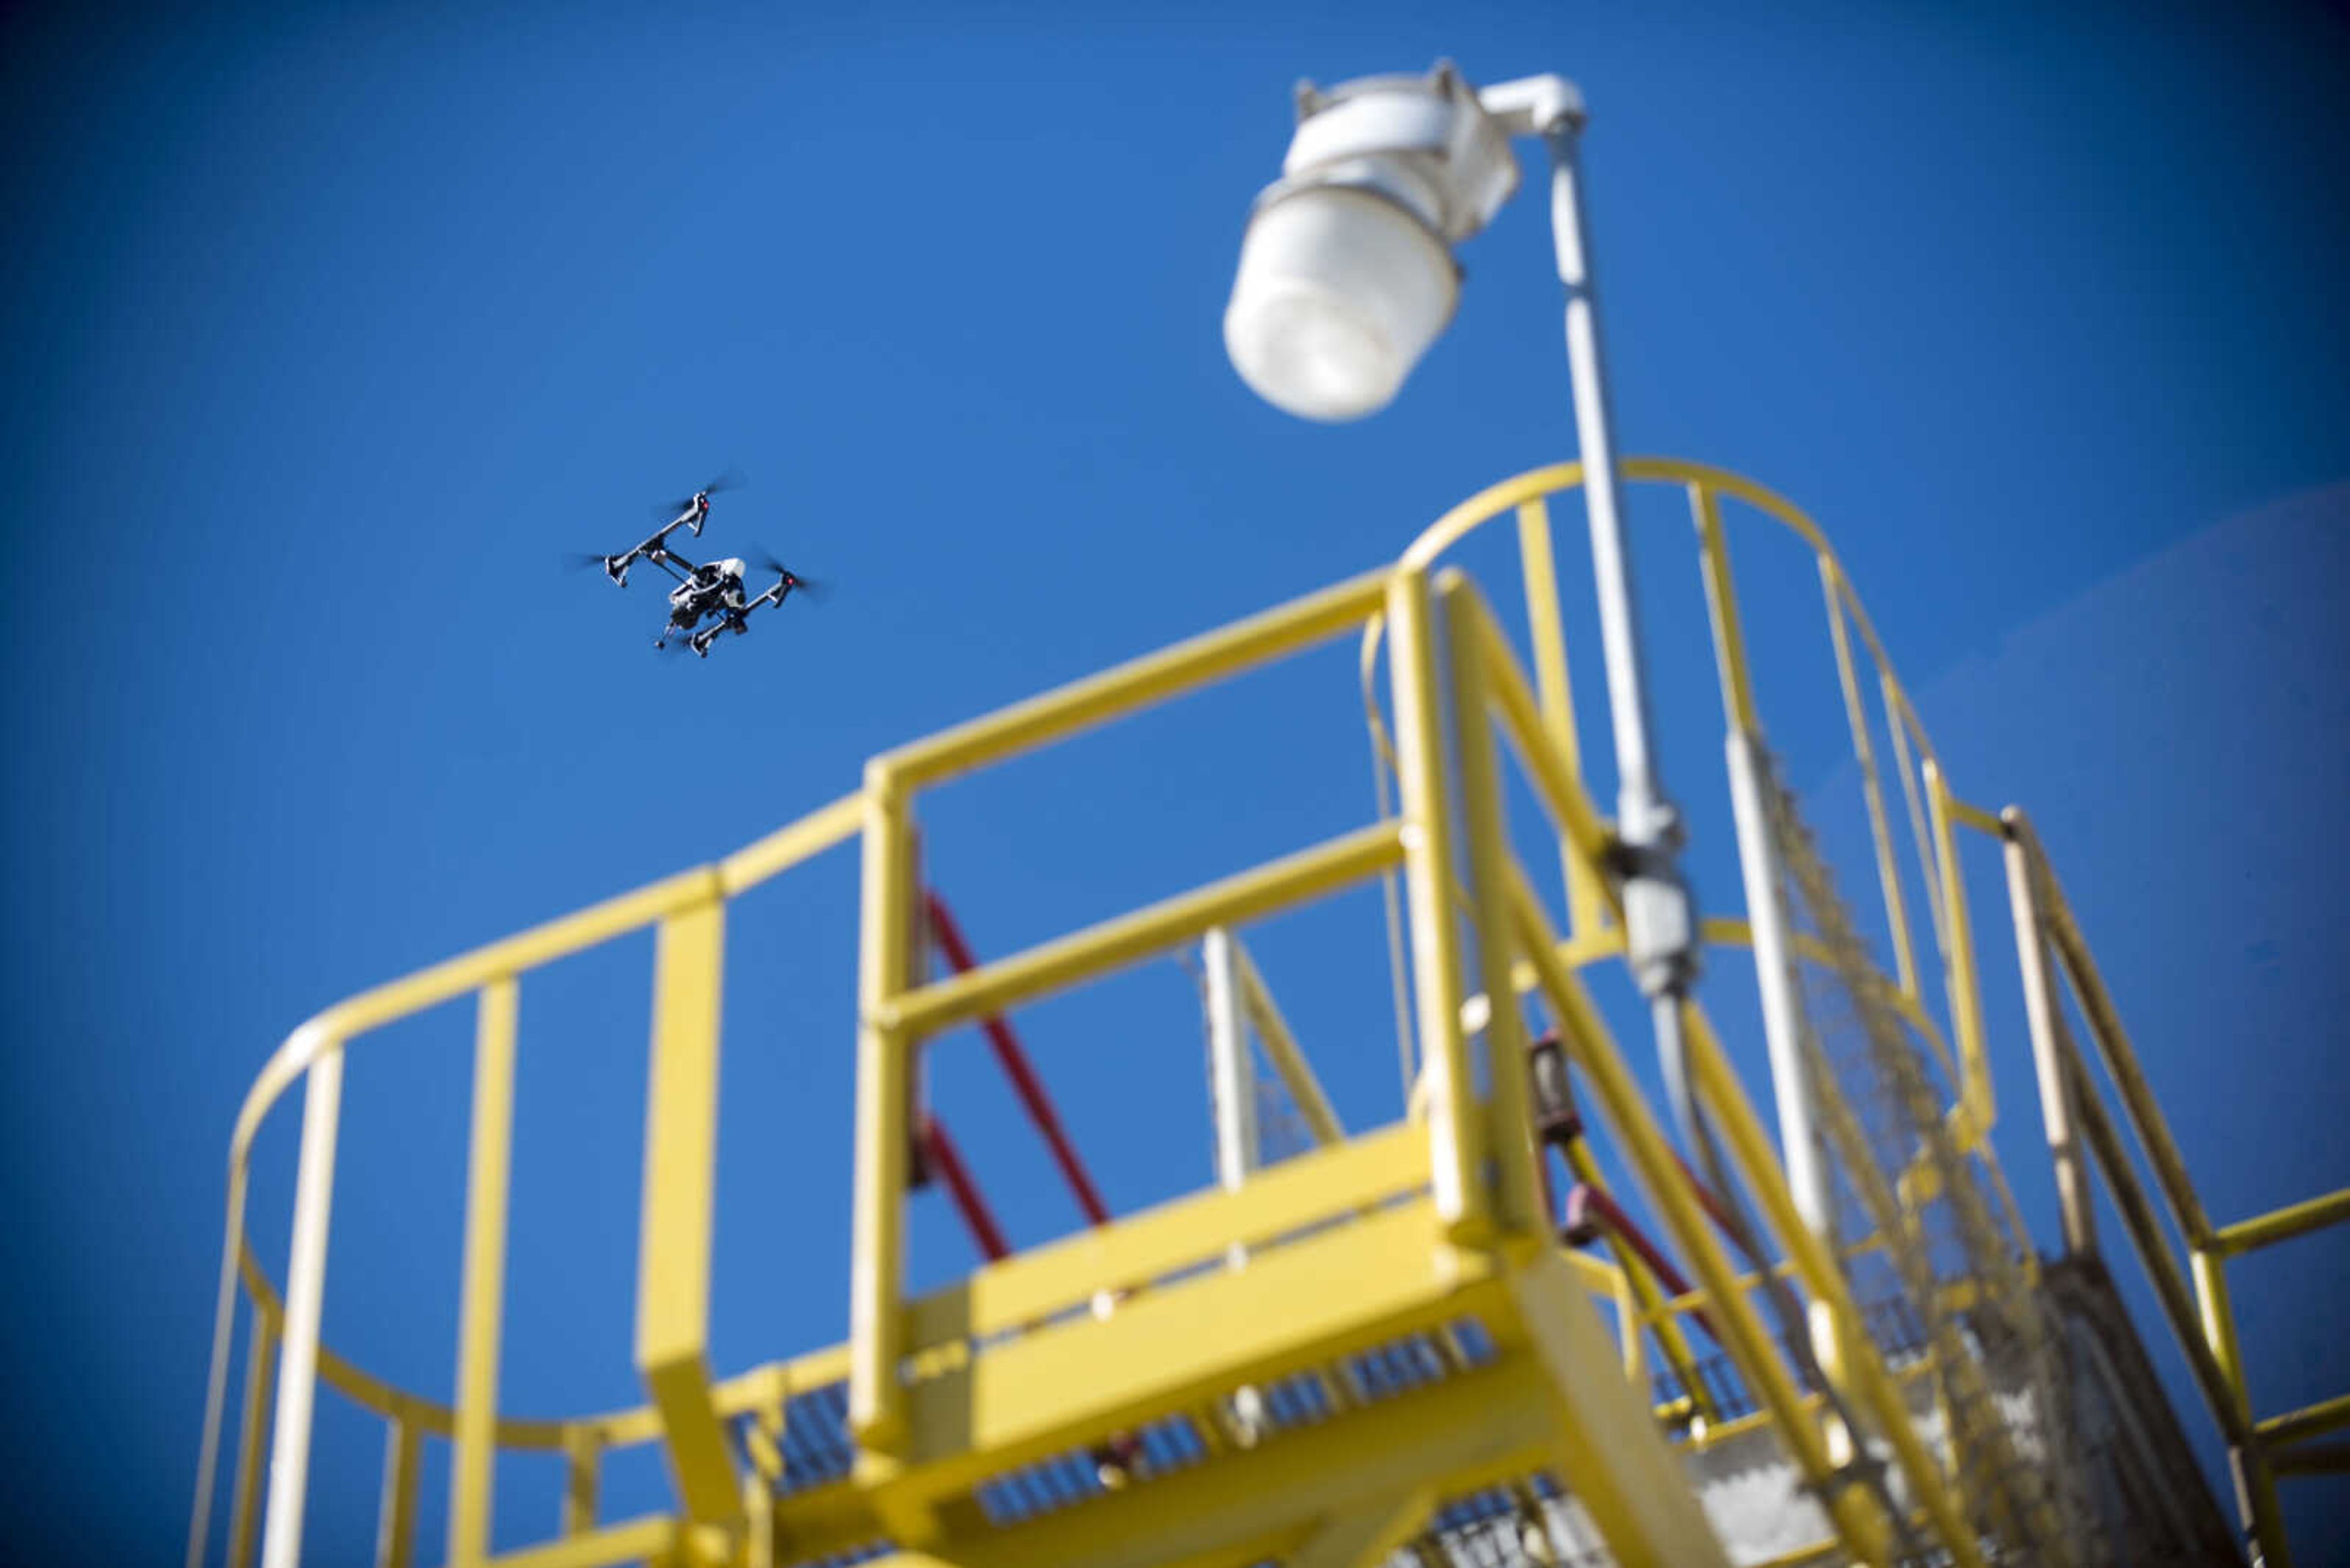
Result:
[[[1582,1509],[1596,1537],[1553,1540],[1558,1552],[1584,1552],[1603,1537],[1614,1561],[1701,1563],[1718,1561],[1720,1547],[1690,1493],[1687,1465],[1741,1434],[1767,1436],[1819,1497],[1824,1540],[1786,1554],[1786,1563],[1892,1563],[1911,1537],[1934,1542],[1953,1563],[1986,1563],[1990,1554],[2016,1561],[2044,1537],[2044,1526],[2035,1523],[2040,1505],[2019,1490],[2014,1455],[2030,1453],[2026,1436],[2042,1443],[2061,1436],[2061,1413],[2052,1399],[2037,1403],[2037,1427],[1967,1413],[1969,1366],[1981,1373],[1986,1347],[1998,1349],[1998,1335],[1986,1338],[1986,1312],[2014,1316],[2019,1288],[2033,1281],[2033,1258],[1988,1147],[1995,1100],[1955,849],[1960,827],[1998,837],[2007,851],[2059,1192],[2082,1190],[2087,1147],[2240,1453],[2242,1509],[2268,1561],[2282,1563],[2282,1535],[2272,1542],[2272,1476],[2315,1469],[2322,1455],[2308,1439],[2350,1422],[2350,1399],[2254,1422],[2218,1262],[2350,1215],[2350,1192],[2211,1227],[2037,839],[2021,813],[2002,820],[1950,792],[1819,529],[1777,494],[1718,468],[1629,458],[1622,470],[1636,482],[1678,484],[1690,498],[1732,738],[1758,741],[1760,719],[1723,501],[1774,517],[1819,559],[1894,976],[1880,973],[1849,938],[1849,919],[1814,872],[1791,813],[1781,813],[1786,832],[1774,832],[1772,844],[1791,867],[1781,886],[1805,912],[1802,929],[1788,933],[1793,957],[1812,985],[1831,987],[1828,1001],[1840,997],[1859,1016],[1854,1030],[1835,1037],[1856,1051],[1854,1067],[1847,1074],[1828,1051],[1826,1070],[1814,1074],[1819,1103],[1849,1098],[1861,1126],[1871,1114],[1882,1117],[1885,1105],[1906,1117],[1908,1143],[1892,1135],[1871,1143],[1864,1133],[1842,1159],[1852,1197],[1868,1211],[1868,1234],[1805,1215],[1788,1159],[1748,1103],[1706,1011],[1694,1001],[1683,1009],[1692,1093],[1727,1147],[1737,1201],[1760,1218],[1760,1262],[1786,1274],[1810,1307],[1812,1333],[1793,1328],[1812,1340],[1810,1349],[1770,1321],[1762,1279],[1741,1274],[1753,1260],[1741,1258],[1708,1213],[1708,1199],[1732,1194],[1708,1194],[1680,1166],[1582,980],[1591,964],[1622,954],[1622,922],[1610,910],[1617,898],[1610,830],[1582,780],[1565,679],[1549,529],[1549,496],[1582,477],[1579,465],[1565,463],[1473,496],[1394,569],[877,757],[855,795],[717,865],[376,987],[296,1030],[256,1081],[230,1145],[190,1568],[204,1568],[212,1535],[240,1295],[251,1302],[254,1354],[235,1443],[233,1568],[244,1568],[256,1540],[270,1568],[298,1561],[317,1382],[385,1422],[378,1563],[390,1568],[414,1559],[425,1441],[454,1448],[451,1563],[771,1568],[867,1561],[898,1549],[916,1563],[912,1549],[940,1540],[952,1547],[942,1549],[949,1561],[975,1568],[1140,1561],[1133,1540],[1144,1528],[1156,1533],[1152,1540],[1194,1542],[1191,1561],[1231,1568],[1292,1559],[1368,1563],[1405,1547],[1431,1561],[1429,1542],[1497,1516],[1497,1495],[1553,1521],[1560,1509]],[[1476,588],[1459,574],[1434,571],[1452,541],[1502,515],[1518,524],[1532,675]],[[1394,766],[1396,783],[1386,792],[1382,780],[1372,823],[1025,952],[952,976],[919,973],[921,790],[1349,632],[1363,637],[1375,762]],[[1911,938],[1854,635],[1875,672],[1885,741],[1908,806],[1948,1032],[1929,1009]],[[1382,663],[1394,724],[1377,701]],[[1502,816],[1504,752],[1532,788],[1556,844],[1567,889],[1565,933],[1535,896]],[[851,1340],[719,1378],[707,1363],[707,1281],[724,907],[851,837],[862,853]],[[1314,1147],[1234,1190],[1175,1199],[1010,1253],[924,1298],[905,1293],[902,1225],[916,1131],[907,1088],[926,1037],[1398,872],[1398,1034],[1415,1065],[1403,1121],[1354,1135],[1335,1117],[1321,1124],[1311,1067],[1241,950],[1241,1011],[1267,1063],[1314,1121]],[[649,1403],[522,1420],[496,1408],[517,983],[540,964],[646,926],[658,940],[634,1361]],[[1765,926],[1748,910],[1748,919],[1706,919],[1704,938],[1748,945]],[[2080,997],[2092,1044],[2117,1084],[2122,1119],[2148,1150],[2188,1237],[2193,1305],[2115,1121],[2101,1110],[2087,1056],[2049,1004],[2059,983]],[[461,1356],[456,1396],[439,1403],[341,1361],[320,1345],[317,1326],[343,1051],[395,1018],[468,994],[477,1006],[477,1051]],[[1694,1286],[1676,1284],[1619,1232],[1607,1234],[1612,1258],[1556,1246],[1537,1164],[1546,1154],[1530,1138],[1530,1086],[1520,1072],[1530,1009],[1556,1025],[1591,1135],[1622,1154]],[[1896,1037],[1892,1056],[1878,1048]],[[1840,1074],[1852,1079],[1849,1093]],[[306,1114],[294,1246],[280,1293],[244,1237],[244,1166],[261,1117],[294,1084],[303,1084]],[[1929,1182],[1913,1171],[1915,1145],[1927,1145]],[[1577,1180],[1593,1180],[1574,1147],[1567,1161]],[[1932,1182],[1939,1185],[1929,1192]],[[1864,1190],[1878,1201],[1866,1201]],[[1936,1201],[1965,1208],[1972,1300],[1943,1288],[1955,1281],[1943,1279],[1932,1246],[1906,1241],[1920,1229],[1911,1211],[1929,1218]],[[2089,1246],[2087,1220],[2073,1206],[2066,1241],[2073,1251]],[[1922,1269],[1904,1262],[1904,1246],[1927,1260]],[[1248,1253],[1246,1269],[1229,1267],[1234,1248]],[[1856,1262],[1889,1253],[1882,1269]],[[1332,1300],[1316,1284],[1332,1269],[1361,1291]],[[1885,1284],[1896,1309],[1873,1298],[1871,1279]],[[1206,1309],[1222,1316],[1194,1321]],[[1607,1319],[1612,1342],[1600,1328]],[[1699,1333],[1720,1354],[1699,1354]],[[1814,1363],[1826,1387],[1810,1382]],[[1633,1392],[1652,1368],[1671,1380],[1673,1396]],[[1995,1371],[1979,1382],[1993,1401],[2012,1403],[2012,1389],[2026,1389],[2030,1406],[2033,1378],[2028,1368]],[[1229,1422],[1229,1396],[1243,1385],[1260,1387],[1274,1410],[1260,1443],[1241,1441]],[[1939,1420],[1936,1396],[1946,1406]],[[1856,1418],[1856,1432],[1842,1425],[1842,1413]],[[1142,1453],[1135,1483],[1114,1495],[1072,1486],[1069,1465],[1119,1434],[1130,1434]],[[1840,1483],[1840,1446],[1852,1441],[1885,1450],[1906,1519],[1887,1514],[1871,1488]],[[639,1443],[665,1455],[677,1507],[609,1523],[597,1509],[602,1458]],[[491,1559],[486,1537],[498,1450],[566,1455],[559,1537],[505,1559]],[[2066,1488],[2052,1497],[2049,1507],[2070,1507]],[[1215,1535],[1224,1521],[1246,1521],[1243,1535]]]

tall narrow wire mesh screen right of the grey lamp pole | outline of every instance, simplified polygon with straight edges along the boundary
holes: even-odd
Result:
[[[1899,1298],[1922,1326],[1922,1347],[1880,1352],[1896,1368],[1932,1361],[1958,1502],[1993,1561],[2103,1561],[2028,1241],[1981,1159],[1950,1135],[1950,1074],[1868,957],[1793,799],[1767,764],[1760,773],[1854,1298]]]

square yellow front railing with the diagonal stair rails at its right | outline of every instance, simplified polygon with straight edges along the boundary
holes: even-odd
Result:
[[[1408,877],[1417,1027],[1429,1065],[1422,1098],[1429,1121],[1424,1173],[1443,1234],[1466,1246],[1539,1246],[1542,1237],[1532,1145],[1525,1135],[1523,1074],[1488,1072],[1483,1074],[1485,1095],[1476,1093],[1480,1074],[1469,1053],[1469,1032],[1462,1025],[1466,987],[1452,907],[1455,889],[1466,886],[1471,924],[1488,933],[1488,940],[1480,943],[1483,973],[1478,976],[1485,994],[1513,994],[1511,947],[1518,947],[1516,959],[1532,969],[1553,1009],[1570,1020],[1579,1046],[1579,1067],[1600,1077],[1607,1121],[1619,1138],[1629,1140],[1636,1164],[1652,1185],[1652,1201],[1666,1213],[1673,1239],[1699,1260],[1708,1295],[1723,1302],[1720,1312],[1732,1326],[1730,1340],[1741,1375],[1758,1392],[1772,1422],[1786,1434],[1805,1474],[1824,1490],[1835,1493],[1838,1528],[1847,1544],[1868,1561],[1882,1561],[1889,1521],[1871,1516],[1871,1502],[1861,1490],[1828,1486],[1835,1465],[1807,1401],[1798,1394],[1793,1371],[1772,1347],[1753,1307],[1727,1288],[1732,1279],[1727,1255],[1713,1239],[1678,1164],[1673,1164],[1671,1147],[1633,1091],[1614,1046],[1605,1039],[1589,1001],[1582,999],[1579,983],[1572,980],[1570,971],[1556,969],[1551,940],[1544,940],[1537,952],[1525,950],[1523,926],[1528,919],[1539,919],[1539,907],[1530,903],[1511,870],[1506,837],[1480,818],[1483,806],[1478,804],[1497,799],[1492,741],[1485,729],[1488,710],[1502,724],[1553,813],[1567,875],[1589,879],[1603,900],[1612,898],[1603,870],[1605,823],[1586,799],[1556,741],[1563,682],[1553,682],[1549,701],[1537,698],[1473,592],[1452,581],[1443,597],[1445,614],[1438,623],[1431,614],[1426,578],[1408,562],[1386,578],[1365,578],[1330,595],[1297,602],[1227,632],[1025,703],[996,719],[964,726],[926,748],[884,757],[867,773],[867,994],[860,1039],[858,1307],[851,1380],[851,1420],[867,1450],[865,1474],[886,1483],[895,1462],[935,1462],[942,1453],[942,1443],[924,1436],[916,1429],[921,1422],[909,1413],[919,1399],[921,1373],[916,1371],[914,1382],[907,1382],[895,1368],[902,1363],[919,1368],[926,1359],[966,1340],[1048,1316],[1067,1302],[1114,1300],[1135,1288],[1149,1269],[1168,1267],[1182,1258],[1182,1248],[1161,1241],[1149,1227],[1137,1227],[1126,1246],[1088,1237],[1053,1248],[1036,1262],[1015,1258],[994,1265],[978,1276],[987,1281],[989,1295],[996,1300],[985,1314],[975,1309],[973,1298],[964,1295],[954,1295],[935,1309],[919,1305],[909,1309],[902,1300],[902,1262],[898,1258],[902,1246],[898,1213],[905,1197],[902,1084],[907,1058],[921,1034],[1088,980],[1210,926],[1300,903],[1401,863]],[[1140,705],[1180,693],[1250,663],[1295,651],[1311,639],[1368,623],[1372,616],[1382,618],[1389,639],[1401,773],[1398,823],[1344,835],[1288,860],[1102,922],[952,980],[919,990],[893,990],[891,983],[902,976],[905,964],[898,933],[907,929],[914,896],[912,783],[933,783],[959,769],[999,762],[1018,750],[1114,717],[1123,712],[1121,703]],[[1450,639],[1445,649],[1438,649],[1438,625]],[[1450,670],[1450,689],[1445,689],[1441,670]],[[1551,712],[1549,724],[1544,708]],[[1459,790],[1464,795],[1459,818],[1469,835],[1464,844],[1455,844],[1455,811],[1445,802],[1450,788],[1443,769],[1445,715],[1452,715],[1450,741],[1459,759]],[[1518,933],[1516,943],[1492,936],[1511,931]],[[1563,976],[1565,990],[1560,990]],[[1793,1225],[1793,1201],[1784,1192],[1784,1178],[1760,1121],[1744,1105],[1711,1027],[1694,1009],[1692,1027],[1701,1041],[1701,1093],[1713,1114],[1732,1128],[1741,1173],[1755,1187],[1774,1229],[1784,1229]],[[1492,1063],[1523,1058],[1525,1041],[1513,1009],[1488,1013],[1485,1051]],[[1419,1166],[1382,1164],[1391,1157],[1379,1138],[1358,1140],[1356,1147],[1361,1150],[1358,1159],[1384,1171],[1391,1182],[1417,1180]],[[1488,1161],[1495,1171],[1490,1182],[1480,1178]],[[1340,1168],[1330,1166],[1328,1171]],[[1316,1171],[1321,1168],[1316,1166]],[[1302,1182],[1304,1173],[1297,1173],[1297,1180]],[[1337,1175],[1332,1180],[1337,1190],[1349,1194],[1349,1201],[1375,1197],[1375,1192]],[[1304,1218],[1304,1211],[1292,1213],[1278,1206],[1260,1211],[1260,1204],[1267,1201],[1257,1192],[1241,1192],[1203,1199],[1203,1208],[1180,1211],[1180,1222],[1189,1227],[1184,1232],[1187,1246],[1213,1251],[1220,1244],[1243,1241],[1246,1234],[1236,1227],[1241,1225],[1238,1215],[1246,1213],[1260,1215],[1257,1229],[1278,1229]],[[1316,1201],[1323,1208],[1340,1206],[1337,1192],[1321,1192]],[[1175,1222],[1177,1215],[1170,1215],[1168,1225]],[[1800,1227],[1795,1232],[1795,1237],[1781,1239],[1791,1246],[1805,1286],[1854,1326],[1847,1338],[1861,1338],[1856,1335],[1859,1316],[1833,1260],[1810,1239],[1810,1232]],[[1046,1272],[1036,1274],[1039,1267]],[[1032,1276],[1048,1284],[1022,1284]],[[1847,1375],[1852,1378],[1849,1392],[1864,1401],[1894,1441],[1904,1474],[1913,1493],[1925,1500],[1936,1533],[1948,1535],[1960,1561],[1976,1561],[1941,1469],[1911,1427],[1882,1361],[1868,1352]],[[916,1516],[902,1516],[898,1523],[909,1530],[924,1528]]]

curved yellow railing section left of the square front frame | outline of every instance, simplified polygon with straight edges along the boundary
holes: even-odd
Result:
[[[719,1526],[740,1521],[743,1488],[726,1455],[721,1422],[740,1413],[780,1410],[780,1401],[806,1378],[806,1368],[761,1368],[714,1387],[705,1359],[724,905],[832,849],[855,827],[858,799],[834,802],[717,865],[656,882],[352,997],[287,1039],[247,1095],[230,1138],[228,1227],[188,1535],[190,1568],[202,1568],[209,1542],[228,1345],[240,1286],[251,1302],[254,1328],[230,1505],[230,1568],[244,1568],[256,1544],[268,1568],[291,1568],[301,1559],[310,1415],[320,1382],[383,1418],[388,1427],[385,1512],[376,1549],[378,1563],[388,1568],[414,1561],[418,1450],[428,1436],[454,1448],[446,1547],[451,1563],[489,1561],[491,1465],[498,1448],[571,1455],[566,1528],[580,1540],[576,1554],[564,1561],[632,1561],[644,1556],[642,1537],[658,1533],[651,1523],[625,1526],[620,1533],[592,1530],[595,1472],[599,1458],[616,1448],[665,1443],[689,1521]],[[653,1403],[564,1420],[501,1418],[496,1385],[519,978],[646,926],[656,929],[656,1009],[634,1359]],[[320,1342],[320,1307],[343,1053],[374,1030],[468,994],[475,997],[477,1032],[458,1392],[454,1406],[442,1406],[395,1389],[329,1352]],[[280,1298],[244,1237],[247,1173],[263,1119],[296,1084],[303,1084],[301,1164],[294,1251]],[[686,1540],[691,1528],[677,1526],[672,1535]]]

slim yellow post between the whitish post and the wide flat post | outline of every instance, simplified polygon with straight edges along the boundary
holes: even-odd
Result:
[[[489,1556],[498,1458],[498,1328],[505,1302],[505,1199],[515,1138],[515,978],[482,987],[472,1046],[472,1147],[465,1173],[465,1284],[458,1307],[456,1453],[449,1460],[449,1563]]]

